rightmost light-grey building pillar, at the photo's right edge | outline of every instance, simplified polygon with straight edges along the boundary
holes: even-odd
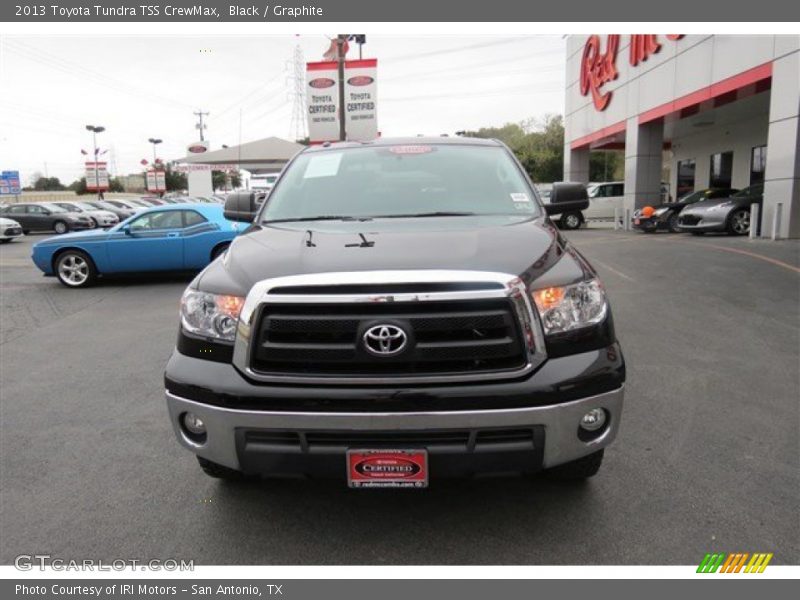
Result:
[[[772,237],[782,204],[778,238],[800,237],[800,51],[772,63],[767,168],[761,237]]]

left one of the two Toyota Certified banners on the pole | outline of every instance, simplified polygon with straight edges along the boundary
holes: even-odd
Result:
[[[311,143],[339,139],[339,71],[335,61],[306,64],[306,110]]]

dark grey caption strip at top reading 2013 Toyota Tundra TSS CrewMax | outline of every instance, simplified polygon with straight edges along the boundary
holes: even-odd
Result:
[[[7,22],[786,22],[787,0],[40,0],[3,2]]]

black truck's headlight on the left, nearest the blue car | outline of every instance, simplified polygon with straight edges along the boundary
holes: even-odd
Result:
[[[189,333],[232,342],[244,298],[187,289],[181,298],[181,325]]]

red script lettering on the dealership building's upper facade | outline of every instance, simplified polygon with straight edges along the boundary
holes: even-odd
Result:
[[[683,35],[667,35],[670,41],[679,40]],[[619,54],[618,34],[606,36],[605,49],[600,42],[599,35],[589,36],[583,47],[581,58],[580,90],[581,95],[592,95],[592,102],[597,110],[605,110],[611,102],[611,91],[603,91],[603,86],[614,81],[619,76],[617,70],[617,54]],[[661,50],[661,43],[656,35],[631,35],[628,48],[628,62],[635,67],[644,62],[652,54]]]

